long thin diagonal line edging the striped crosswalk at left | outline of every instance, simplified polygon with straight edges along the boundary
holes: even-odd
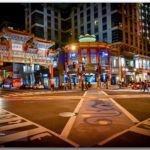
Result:
[[[3,109],[1,109],[1,110],[3,110]],[[6,111],[6,110],[5,110],[5,111]],[[65,141],[65,142],[68,142],[68,143],[71,144],[72,146],[74,146],[74,147],[79,147],[79,145],[78,145],[77,143],[75,143],[75,142],[73,142],[73,141],[71,141],[71,140],[69,140],[69,139],[67,139],[67,138],[61,137],[59,134],[57,134],[56,132],[54,132],[54,131],[52,131],[52,130],[49,130],[49,129],[47,129],[47,128],[45,128],[45,127],[43,127],[43,126],[41,126],[41,125],[39,125],[39,124],[37,124],[37,123],[31,122],[30,120],[28,120],[28,119],[26,119],[26,118],[23,118],[23,117],[21,117],[21,116],[19,116],[19,115],[17,115],[17,114],[12,113],[12,112],[9,112],[9,111],[6,111],[6,112],[11,113],[11,114],[17,116],[17,118],[19,118],[19,119],[23,119],[23,120],[25,120],[25,121],[27,121],[27,122],[30,122],[31,124],[33,124],[33,125],[37,126],[38,128],[40,128],[40,130],[42,129],[42,132],[43,132],[43,131],[47,131],[47,132],[51,133],[52,135],[54,135],[54,136],[60,138],[61,140]],[[13,119],[12,119],[12,120],[13,120]],[[11,120],[11,121],[12,121],[12,120]],[[10,121],[10,120],[9,120],[9,121]],[[18,133],[18,134],[19,134],[19,133]],[[26,132],[24,131],[24,132],[22,132],[22,134],[26,134]],[[11,137],[16,138],[15,136],[16,136],[16,135],[14,135],[14,136],[12,135]],[[6,139],[7,139],[7,137],[6,137]]]

